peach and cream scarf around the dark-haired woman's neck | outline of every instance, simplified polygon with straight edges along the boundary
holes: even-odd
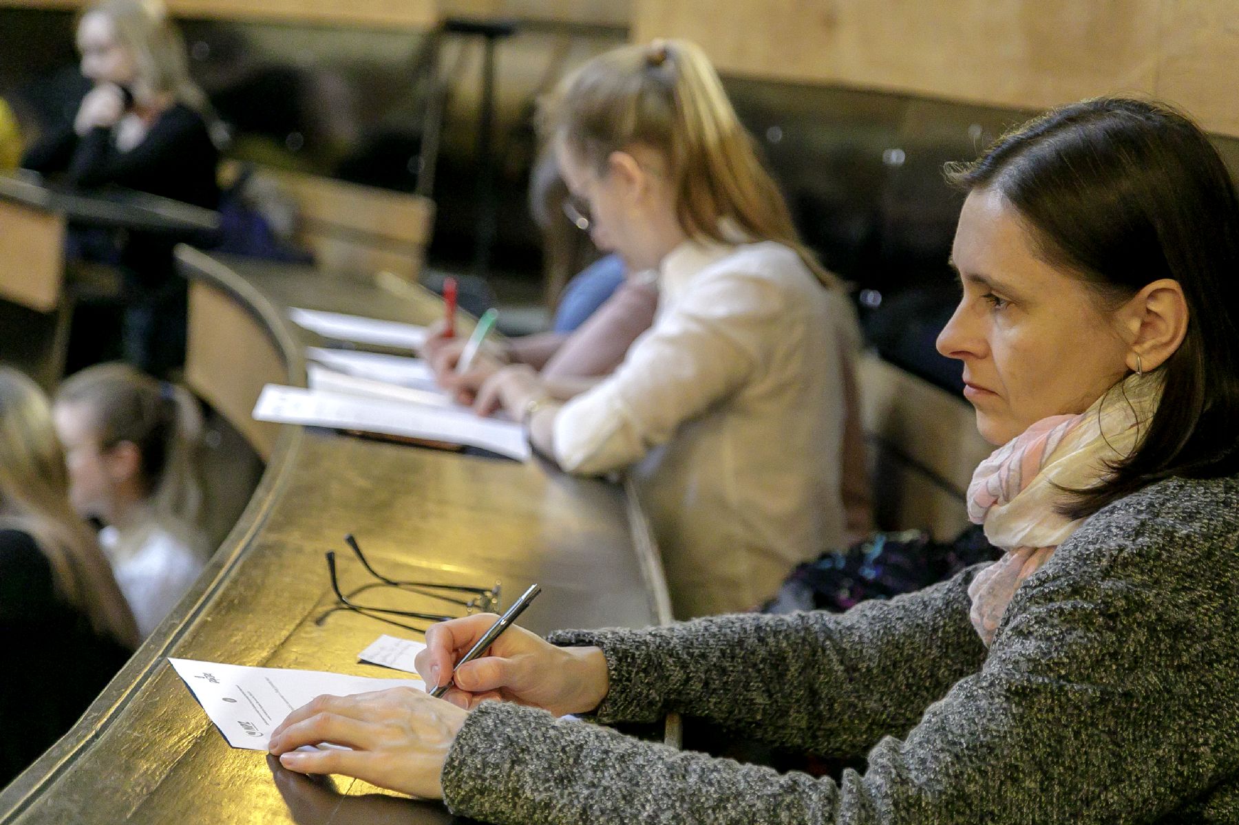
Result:
[[[1059,515],[1062,488],[1097,484],[1106,463],[1131,455],[1161,398],[1160,375],[1129,375],[1079,415],[1052,415],[1002,445],[968,486],[968,517],[1006,554],[968,587],[970,618],[989,647],[1023,580],[1083,519]]]

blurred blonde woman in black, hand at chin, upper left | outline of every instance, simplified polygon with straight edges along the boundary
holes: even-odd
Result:
[[[102,0],[82,14],[77,45],[82,74],[94,87],[73,123],[43,136],[22,166],[63,172],[78,187],[115,183],[214,209],[217,126],[162,4]],[[186,290],[172,271],[172,244],[131,232],[119,249],[125,359],[154,373],[185,359]]]

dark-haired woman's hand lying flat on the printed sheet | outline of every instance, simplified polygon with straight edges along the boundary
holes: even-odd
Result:
[[[269,749],[299,773],[338,773],[422,799],[442,799],[440,774],[468,714],[413,688],[318,696],[271,732]],[[351,751],[297,751],[305,744]]]

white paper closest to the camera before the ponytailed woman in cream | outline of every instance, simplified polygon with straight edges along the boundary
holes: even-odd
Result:
[[[524,427],[514,421],[483,419],[468,409],[450,409],[362,398],[344,393],[268,384],[254,405],[259,421],[364,430],[481,447],[528,461],[532,452]]]

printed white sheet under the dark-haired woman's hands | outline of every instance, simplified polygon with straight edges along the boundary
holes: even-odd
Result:
[[[426,689],[421,679],[373,679],[171,657],[169,661],[228,744],[247,751],[265,751],[275,726],[315,696],[352,696],[388,688]]]

